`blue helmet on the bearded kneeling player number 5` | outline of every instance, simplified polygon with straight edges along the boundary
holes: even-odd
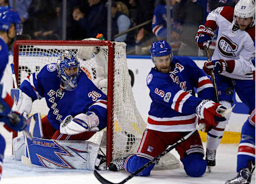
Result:
[[[173,57],[172,48],[164,39],[159,41],[153,41],[150,48],[150,54],[154,63],[155,63],[155,57],[166,56],[166,55],[170,55],[171,59]]]

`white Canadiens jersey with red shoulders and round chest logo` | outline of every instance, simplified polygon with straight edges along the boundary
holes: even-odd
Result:
[[[241,30],[234,27],[233,17],[234,9],[230,6],[218,7],[207,16],[206,27],[213,30],[219,27],[212,60],[235,60],[234,71],[221,74],[234,79],[252,80],[249,60],[255,55],[255,26]]]

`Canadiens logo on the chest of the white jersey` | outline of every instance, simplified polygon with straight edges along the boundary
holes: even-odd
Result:
[[[218,41],[218,50],[221,55],[226,57],[234,57],[234,52],[237,51],[238,45],[231,41],[227,36],[221,35]]]

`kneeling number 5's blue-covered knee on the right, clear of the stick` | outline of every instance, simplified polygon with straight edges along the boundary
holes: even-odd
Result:
[[[206,170],[206,161],[203,160],[203,154],[191,153],[181,161],[184,170],[190,177],[201,177]]]

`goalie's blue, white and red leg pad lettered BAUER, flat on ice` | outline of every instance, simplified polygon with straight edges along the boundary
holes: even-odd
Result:
[[[47,140],[26,138],[22,163],[52,169],[94,170],[99,145],[85,140]]]

